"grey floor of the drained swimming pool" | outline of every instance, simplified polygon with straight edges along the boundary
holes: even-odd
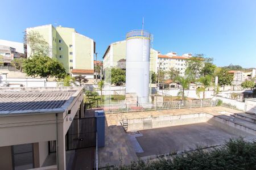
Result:
[[[237,137],[208,123],[148,129],[140,132],[143,136],[137,137],[137,141],[144,152],[137,154],[139,157],[191,150],[197,146],[221,145],[229,138]]]

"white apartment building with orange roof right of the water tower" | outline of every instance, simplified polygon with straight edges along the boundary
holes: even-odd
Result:
[[[185,75],[186,61],[192,57],[192,54],[183,54],[177,56],[177,53],[170,52],[166,55],[159,54],[157,61],[157,70],[162,69],[163,71],[169,71],[171,68],[180,71],[180,75]]]

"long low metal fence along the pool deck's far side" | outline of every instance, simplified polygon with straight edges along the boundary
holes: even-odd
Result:
[[[181,109],[181,108],[199,108],[213,107],[217,105],[217,100],[183,100],[168,101],[161,103],[145,104],[106,104],[99,105],[98,108],[104,109],[105,113],[123,113],[123,112],[143,112],[162,109]]]

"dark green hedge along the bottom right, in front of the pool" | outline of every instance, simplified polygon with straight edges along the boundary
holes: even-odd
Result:
[[[130,165],[107,169],[256,169],[256,142],[230,139],[224,146],[214,150],[198,149],[173,159],[139,160]]]

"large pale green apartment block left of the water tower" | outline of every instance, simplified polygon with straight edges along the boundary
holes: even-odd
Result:
[[[26,29],[27,33],[30,31],[39,32],[44,37],[49,44],[49,57],[63,63],[68,74],[93,78],[96,45],[93,39],[77,33],[74,28],[55,28],[51,24]],[[30,53],[30,46],[27,45],[27,56]]]

